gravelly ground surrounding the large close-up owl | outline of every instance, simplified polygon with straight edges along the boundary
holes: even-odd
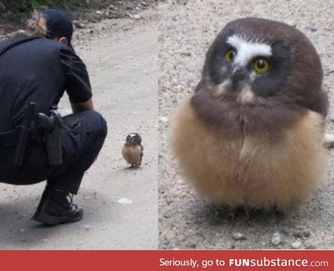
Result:
[[[159,247],[161,249],[334,248],[334,171],[285,215],[251,213],[234,222],[202,202],[178,174],[168,151],[168,128],[177,104],[200,79],[205,52],[218,31],[239,17],[267,17],[296,25],[315,44],[324,67],[324,88],[334,99],[333,1],[166,1],[159,7]],[[333,107],[333,106],[332,106]],[[326,130],[333,133],[331,109]],[[198,157],[198,159],[200,159]],[[276,244],[276,245],[274,245]]]

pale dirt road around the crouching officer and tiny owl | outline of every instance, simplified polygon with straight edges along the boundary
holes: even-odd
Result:
[[[95,108],[109,124],[96,164],[75,202],[84,219],[58,227],[30,220],[44,183],[0,184],[1,249],[157,248],[157,17],[103,20],[75,34],[74,47],[88,67]],[[70,113],[67,98],[63,115]],[[120,149],[127,133],[143,137],[138,170],[128,170]]]

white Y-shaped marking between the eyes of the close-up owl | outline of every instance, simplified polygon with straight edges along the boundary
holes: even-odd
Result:
[[[255,56],[271,56],[271,46],[265,43],[249,42],[238,35],[230,36],[227,42],[237,50],[233,62],[241,66],[246,66]]]

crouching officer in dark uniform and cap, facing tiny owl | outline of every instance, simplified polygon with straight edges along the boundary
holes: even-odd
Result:
[[[0,182],[46,180],[33,220],[75,222],[83,208],[72,203],[72,195],[102,149],[106,121],[93,110],[86,66],[71,45],[70,19],[59,10],[35,12],[27,28],[26,35],[0,43]],[[56,105],[65,91],[73,113],[61,118]],[[22,157],[13,162],[22,142]],[[53,151],[56,162],[50,161]]]

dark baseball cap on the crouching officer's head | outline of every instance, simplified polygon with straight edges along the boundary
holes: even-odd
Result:
[[[47,34],[54,37],[67,38],[68,46],[73,48],[71,44],[73,33],[71,19],[61,10],[43,10],[42,15],[47,21]]]

